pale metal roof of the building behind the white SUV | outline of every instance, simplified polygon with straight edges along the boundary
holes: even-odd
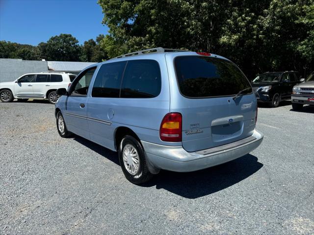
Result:
[[[50,71],[81,71],[94,62],[47,61]]]

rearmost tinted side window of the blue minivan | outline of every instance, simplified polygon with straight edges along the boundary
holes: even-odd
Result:
[[[157,61],[128,61],[121,86],[122,98],[152,98],[161,90],[161,76]]]

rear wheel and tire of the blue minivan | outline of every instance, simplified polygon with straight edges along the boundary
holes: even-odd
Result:
[[[119,146],[119,162],[125,177],[133,184],[143,184],[153,177],[148,170],[142,145],[132,136],[125,136],[122,139]]]

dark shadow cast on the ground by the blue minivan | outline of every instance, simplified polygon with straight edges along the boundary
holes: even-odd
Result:
[[[78,136],[74,140],[119,165],[118,153]],[[234,161],[195,172],[161,170],[150,182],[140,187],[156,186],[157,189],[164,188],[185,198],[198,198],[233,186],[253,175],[262,166],[257,157],[247,154]]]

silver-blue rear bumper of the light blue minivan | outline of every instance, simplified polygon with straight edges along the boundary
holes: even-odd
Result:
[[[182,146],[165,146],[141,141],[147,161],[153,167],[178,172],[189,172],[223,164],[242,157],[256,149],[263,134],[254,130],[252,136],[240,141],[196,152],[187,152]]]

